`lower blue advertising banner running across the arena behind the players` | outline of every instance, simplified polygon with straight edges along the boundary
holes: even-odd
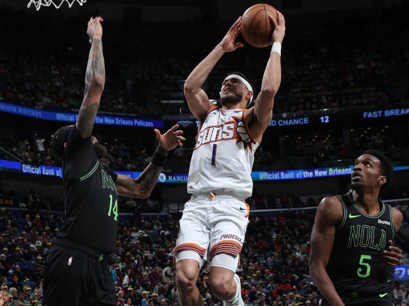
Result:
[[[394,171],[409,170],[409,166],[394,167]],[[62,177],[61,167],[46,165],[31,165],[20,162],[0,160],[0,171],[13,171],[33,175],[46,175]],[[142,172],[116,171],[119,174],[127,175],[136,179]],[[352,165],[345,167],[330,167],[316,169],[278,170],[278,171],[254,171],[253,181],[283,181],[283,180],[304,180],[317,179],[320,177],[331,177],[339,175],[350,175]],[[161,173],[158,183],[187,183],[188,173]]]

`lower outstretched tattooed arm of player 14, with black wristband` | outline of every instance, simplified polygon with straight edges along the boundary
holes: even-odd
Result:
[[[129,176],[118,174],[116,186],[119,194],[142,199],[150,196],[165,165],[168,151],[174,149],[176,146],[183,146],[182,141],[184,141],[185,138],[181,136],[183,131],[176,131],[178,127],[178,124],[172,126],[172,128],[163,135],[158,130],[154,130],[159,145],[153,154],[151,162],[135,180]]]

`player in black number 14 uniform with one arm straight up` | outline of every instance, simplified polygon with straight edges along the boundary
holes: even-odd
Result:
[[[63,163],[66,220],[46,262],[45,306],[117,305],[107,255],[117,241],[118,194],[147,198],[165,164],[168,150],[184,140],[172,127],[155,130],[159,146],[136,180],[113,173],[98,158],[106,150],[91,136],[105,84],[101,17],[91,18],[92,47],[85,76],[85,96],[75,125],[63,126],[51,142]]]

